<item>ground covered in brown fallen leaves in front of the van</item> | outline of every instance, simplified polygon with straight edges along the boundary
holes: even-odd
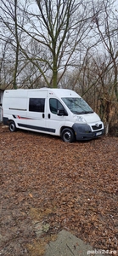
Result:
[[[0,195],[1,255],[42,255],[62,229],[118,253],[118,137],[63,143],[1,125]]]

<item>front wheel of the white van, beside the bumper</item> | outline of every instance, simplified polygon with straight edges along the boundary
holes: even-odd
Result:
[[[65,143],[74,143],[76,141],[74,131],[72,131],[70,128],[65,128],[62,131],[61,138]]]

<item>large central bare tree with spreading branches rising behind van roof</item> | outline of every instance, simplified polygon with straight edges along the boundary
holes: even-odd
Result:
[[[36,41],[42,49],[39,55],[20,45],[25,57],[39,68],[48,86],[57,87],[65,71],[79,59],[78,44],[90,32],[89,3],[76,0],[36,1],[35,12],[29,6],[25,17],[27,38]],[[20,26],[19,26],[20,27]],[[45,65],[45,73],[42,69]],[[58,73],[61,72],[61,76]]]

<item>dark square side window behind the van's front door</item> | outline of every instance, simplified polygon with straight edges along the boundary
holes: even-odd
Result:
[[[45,99],[31,98],[29,102],[29,111],[44,112]]]

